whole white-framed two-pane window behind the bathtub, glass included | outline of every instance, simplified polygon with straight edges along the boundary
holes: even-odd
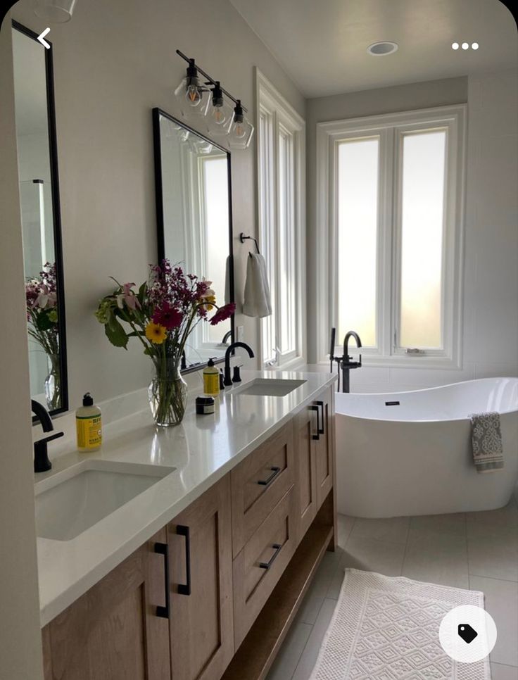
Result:
[[[460,365],[465,111],[317,125],[319,361],[355,309],[365,363]]]

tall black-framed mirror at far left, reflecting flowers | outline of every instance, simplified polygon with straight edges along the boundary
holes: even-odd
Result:
[[[30,391],[54,415],[68,410],[68,380],[52,45],[12,30]]]

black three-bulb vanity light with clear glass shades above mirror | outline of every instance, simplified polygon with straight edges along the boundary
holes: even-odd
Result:
[[[232,96],[228,90],[222,87],[219,80],[214,80],[206,71],[196,65],[194,59],[189,58],[179,49],[176,53],[189,64],[187,77],[175,89],[175,96],[180,102],[182,114],[202,113],[206,115],[209,132],[215,135],[228,135],[228,144],[231,149],[246,149],[252,139],[254,128],[244,115],[247,111],[241,103],[241,99]],[[198,73],[201,73],[208,81],[205,86],[212,86],[212,89],[210,89],[211,96],[206,94],[208,89],[200,84]],[[186,98],[189,101],[188,106],[184,105]],[[233,110],[229,101],[233,101],[235,104]]]

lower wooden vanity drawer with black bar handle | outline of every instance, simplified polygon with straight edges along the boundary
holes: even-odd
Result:
[[[234,560],[235,649],[270,597],[296,548],[293,486]]]

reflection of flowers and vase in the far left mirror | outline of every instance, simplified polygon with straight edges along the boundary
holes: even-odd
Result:
[[[49,361],[44,391],[48,408],[54,410],[61,405],[56,263],[45,263],[39,277],[25,281],[25,304],[29,336],[39,344]]]

